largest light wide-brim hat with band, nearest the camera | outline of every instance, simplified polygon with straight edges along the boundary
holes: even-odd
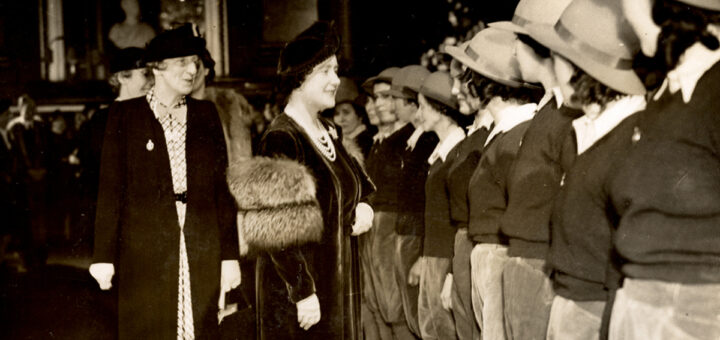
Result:
[[[621,0],[575,0],[553,26],[529,25],[530,36],[606,86],[644,94],[633,70],[640,43],[622,14]]]

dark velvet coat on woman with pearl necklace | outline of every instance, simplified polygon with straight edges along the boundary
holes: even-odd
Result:
[[[329,121],[323,122],[338,130]],[[310,170],[317,181],[317,200],[324,219],[319,243],[260,256],[257,301],[261,339],[359,337],[359,262],[357,240],[350,233],[357,203],[373,192],[374,186],[341,140],[342,135],[334,140],[337,164],[332,164],[295,121],[281,114],[260,143],[260,155],[292,159]],[[344,164],[344,174],[336,171],[338,164]],[[320,301],[321,319],[305,331],[299,327],[295,304],[313,293]]]

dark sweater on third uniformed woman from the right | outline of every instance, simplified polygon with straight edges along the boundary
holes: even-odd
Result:
[[[510,172],[508,206],[500,229],[509,241],[508,254],[545,259],[550,246],[552,202],[560,188],[560,151],[582,111],[545,105],[532,122]]]

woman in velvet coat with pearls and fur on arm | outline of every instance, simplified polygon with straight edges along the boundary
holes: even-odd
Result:
[[[357,339],[360,325],[356,239],[372,225],[361,203],[374,185],[320,112],[335,106],[339,37],[317,22],[280,55],[282,114],[251,161],[228,176],[239,228],[260,251],[261,339]],[[317,189],[317,190],[316,190]]]

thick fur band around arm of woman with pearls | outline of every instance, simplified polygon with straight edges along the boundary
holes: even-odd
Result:
[[[238,205],[238,233],[250,248],[278,250],[320,241],[323,217],[315,179],[305,166],[253,157],[232,163],[227,179]]]

